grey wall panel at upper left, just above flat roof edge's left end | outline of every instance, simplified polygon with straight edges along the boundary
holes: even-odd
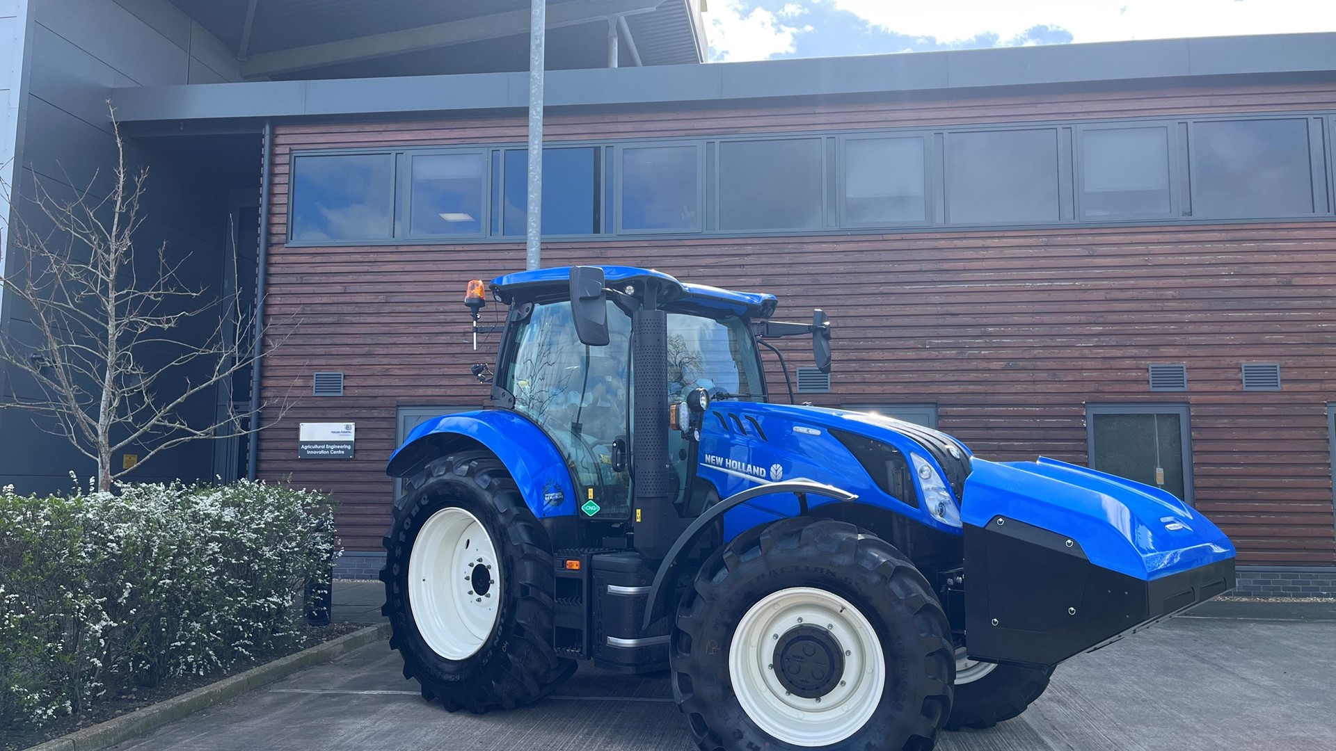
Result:
[[[32,0],[36,21],[139,86],[186,83],[186,48],[111,0]]]

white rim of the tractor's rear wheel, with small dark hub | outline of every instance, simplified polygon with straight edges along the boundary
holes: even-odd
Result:
[[[448,660],[482,648],[497,621],[501,567],[478,517],[461,508],[430,516],[409,555],[413,623],[433,652]]]

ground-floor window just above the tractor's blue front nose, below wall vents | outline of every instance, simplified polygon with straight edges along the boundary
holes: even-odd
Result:
[[[1086,440],[1092,469],[1193,502],[1186,405],[1088,406]]]

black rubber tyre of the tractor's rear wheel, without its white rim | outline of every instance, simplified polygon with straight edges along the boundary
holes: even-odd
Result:
[[[552,544],[509,472],[489,452],[461,452],[429,462],[405,480],[405,488],[383,539],[381,571],[381,612],[390,619],[390,648],[403,657],[403,678],[417,679],[424,699],[440,699],[452,712],[513,710],[546,696],[574,672],[576,663],[552,648]],[[418,532],[433,513],[449,506],[468,510],[486,529],[502,583],[490,635],[461,660],[438,655],[424,640],[407,587]]]

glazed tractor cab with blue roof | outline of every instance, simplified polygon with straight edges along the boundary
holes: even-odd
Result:
[[[668,430],[673,405],[695,389],[711,398],[766,400],[751,323],[774,310],[774,295],[683,285],[667,274],[616,266],[510,274],[492,290],[510,306],[492,400],[533,421],[557,445],[582,490],[587,518],[631,516],[637,393],[652,392],[663,402],[641,396],[639,406],[663,413],[655,433],[668,438],[667,492],[676,502],[685,492],[688,452],[680,433]],[[661,327],[663,341],[633,337],[636,321],[643,329]],[[656,367],[635,377],[633,351],[644,347],[663,353],[665,373]],[[651,385],[651,377],[657,382]]]

